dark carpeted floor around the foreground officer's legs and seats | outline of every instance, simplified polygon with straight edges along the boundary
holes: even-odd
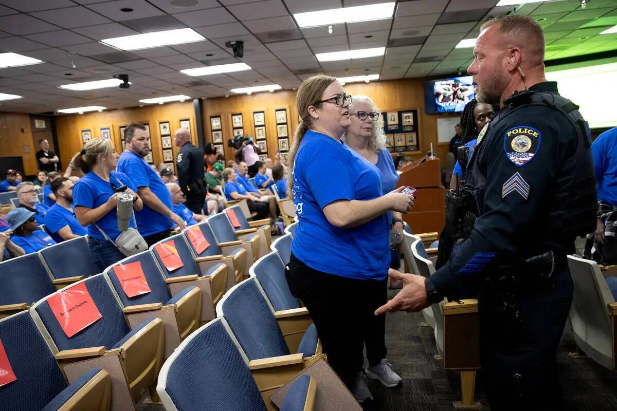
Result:
[[[390,291],[391,296],[395,291]],[[386,388],[369,380],[374,400],[364,405],[366,411],[445,411],[453,410],[452,402],[460,400],[457,372],[446,372],[436,354],[433,329],[422,327],[421,314],[399,312],[388,314],[386,344],[388,359],[403,378],[402,386]],[[573,359],[575,349],[571,332],[566,333],[558,352],[560,382],[568,411],[617,410],[617,373],[591,359]],[[489,411],[481,375],[476,384],[476,401]],[[139,405],[140,411],[163,411],[162,405]],[[238,410],[239,411],[239,410]],[[249,411],[249,410],[242,410]]]

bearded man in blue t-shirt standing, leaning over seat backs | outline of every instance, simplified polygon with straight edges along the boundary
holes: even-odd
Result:
[[[117,170],[130,176],[137,187],[139,197],[144,201],[144,208],[137,211],[137,229],[150,246],[169,237],[174,226],[184,229],[183,219],[172,211],[172,196],[164,182],[144,161],[150,152],[150,137],[141,124],[130,124],[124,130],[126,147],[129,149],[120,155]]]

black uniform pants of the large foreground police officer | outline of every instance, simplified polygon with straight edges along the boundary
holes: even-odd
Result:
[[[479,298],[481,367],[492,411],[562,410],[557,348],[572,303],[566,264],[552,288],[520,298],[521,322],[498,314],[499,302],[482,290]]]

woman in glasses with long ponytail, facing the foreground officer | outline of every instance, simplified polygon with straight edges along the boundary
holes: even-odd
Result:
[[[372,398],[362,373],[365,324],[380,304],[369,296],[390,265],[387,212],[410,211],[413,198],[384,195],[379,169],[341,141],[351,101],[330,76],[313,76],[298,89],[302,121],[289,155],[289,192],[299,226],[286,277],[329,364],[362,402]]]

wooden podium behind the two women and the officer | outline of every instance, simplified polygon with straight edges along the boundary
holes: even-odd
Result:
[[[400,171],[397,187],[409,185],[418,190],[413,210],[403,214],[403,221],[409,224],[414,234],[441,232],[445,224],[445,189],[441,185],[439,158],[412,163]]]

